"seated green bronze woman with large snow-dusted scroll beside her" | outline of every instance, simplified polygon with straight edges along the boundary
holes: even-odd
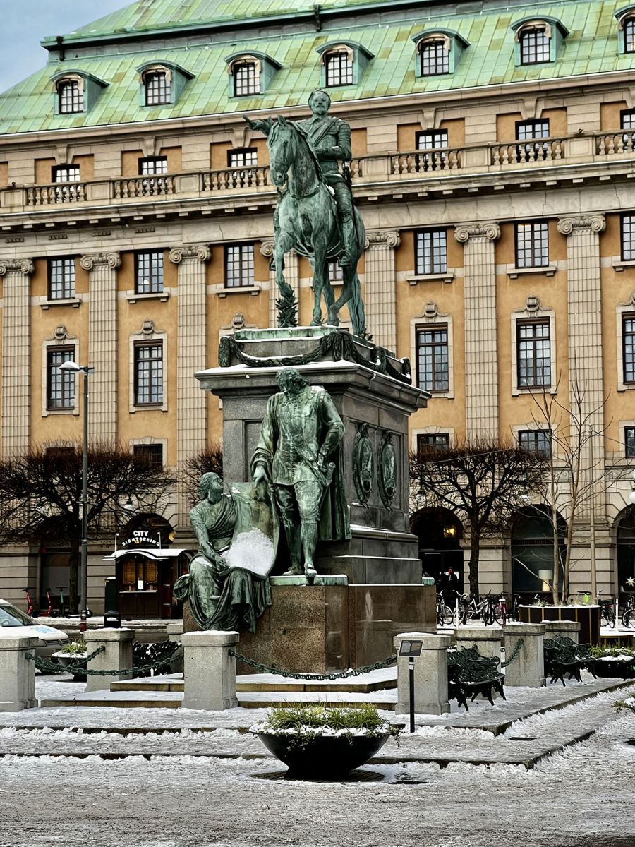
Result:
[[[201,501],[190,512],[198,552],[174,584],[202,629],[256,631],[271,605],[268,575],[278,546],[278,521],[266,486],[235,483],[224,491],[216,473],[203,474]]]

